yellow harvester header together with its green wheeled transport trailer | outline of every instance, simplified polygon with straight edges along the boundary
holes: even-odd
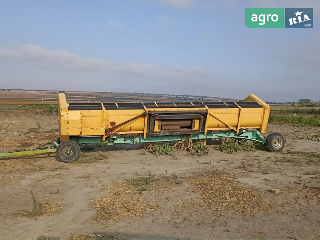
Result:
[[[59,138],[54,146],[0,153],[0,157],[56,153],[60,162],[80,156],[80,143],[150,143],[234,138],[265,144],[279,152],[284,147],[280,133],[265,139],[270,106],[254,94],[241,102],[137,102],[68,103],[58,94]]]

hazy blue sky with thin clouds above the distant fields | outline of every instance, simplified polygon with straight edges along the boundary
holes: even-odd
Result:
[[[318,0],[0,0],[0,88],[320,99]],[[245,8],[314,8],[247,28]]]

